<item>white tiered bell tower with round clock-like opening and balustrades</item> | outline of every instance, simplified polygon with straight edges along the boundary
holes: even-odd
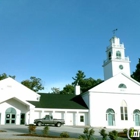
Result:
[[[125,57],[124,44],[121,44],[116,36],[110,39],[110,45],[106,48],[106,57],[107,59],[103,62],[104,80],[120,72],[130,76],[129,57]]]

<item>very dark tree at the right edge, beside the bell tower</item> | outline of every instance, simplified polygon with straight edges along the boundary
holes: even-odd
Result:
[[[140,82],[140,58],[138,64],[136,65],[136,70],[132,73],[131,77],[136,81]]]

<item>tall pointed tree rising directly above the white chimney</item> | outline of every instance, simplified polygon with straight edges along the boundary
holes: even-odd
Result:
[[[79,83],[81,82],[81,80],[83,80],[86,77],[86,75],[84,74],[84,72],[82,72],[81,70],[78,70],[75,78],[72,77],[72,79],[74,80],[74,82],[72,83],[72,85],[76,86],[77,84],[79,85]]]

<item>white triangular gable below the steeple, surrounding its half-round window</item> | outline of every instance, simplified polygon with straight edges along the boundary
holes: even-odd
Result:
[[[119,88],[120,84],[126,85],[127,88]],[[124,73],[118,73],[114,77],[91,88],[88,92],[140,94],[140,83]]]

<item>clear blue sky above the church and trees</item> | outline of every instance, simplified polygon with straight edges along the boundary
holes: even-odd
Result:
[[[116,36],[140,57],[139,0],[0,0],[0,74],[41,78],[45,92],[73,82],[78,70],[104,79],[106,47]]]

